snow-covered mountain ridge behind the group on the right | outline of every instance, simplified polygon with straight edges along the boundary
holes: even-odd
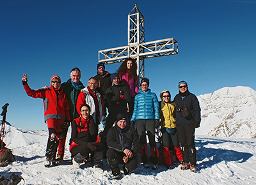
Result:
[[[256,138],[256,91],[250,87],[223,87],[197,96],[202,122],[196,134]]]

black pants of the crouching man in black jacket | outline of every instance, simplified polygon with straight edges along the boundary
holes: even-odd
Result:
[[[107,151],[107,158],[108,159],[117,159],[118,163],[124,164],[123,158],[125,156],[124,152],[118,152],[115,149],[108,149]],[[129,158],[129,161],[125,163],[126,168],[129,172],[133,172],[138,166],[138,157],[136,154],[132,158]],[[118,167],[118,166],[116,166]]]

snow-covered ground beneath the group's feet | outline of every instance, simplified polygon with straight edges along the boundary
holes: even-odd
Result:
[[[198,173],[182,171],[180,166],[172,170],[165,166],[151,170],[139,165],[134,174],[119,181],[108,178],[110,169],[106,161],[104,170],[95,170],[90,165],[73,168],[68,141],[64,161],[45,168],[47,131],[22,131],[6,124],[4,142],[13,149],[17,161],[1,167],[0,174],[15,172],[24,177],[26,184],[256,184],[254,138],[196,135]]]

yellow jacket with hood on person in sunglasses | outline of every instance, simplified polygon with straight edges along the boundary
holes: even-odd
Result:
[[[175,119],[175,103],[169,101],[168,103],[163,101],[163,93],[169,91],[163,91],[160,93],[160,98],[162,101],[159,101],[159,116],[161,121],[162,128],[176,128],[176,119]]]

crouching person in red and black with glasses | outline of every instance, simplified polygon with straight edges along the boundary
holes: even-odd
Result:
[[[80,168],[81,164],[93,154],[93,164],[95,167],[102,165],[103,152],[101,144],[97,142],[98,124],[95,123],[91,108],[84,103],[80,107],[81,116],[72,122],[72,132],[70,138],[70,152],[74,168]]]

